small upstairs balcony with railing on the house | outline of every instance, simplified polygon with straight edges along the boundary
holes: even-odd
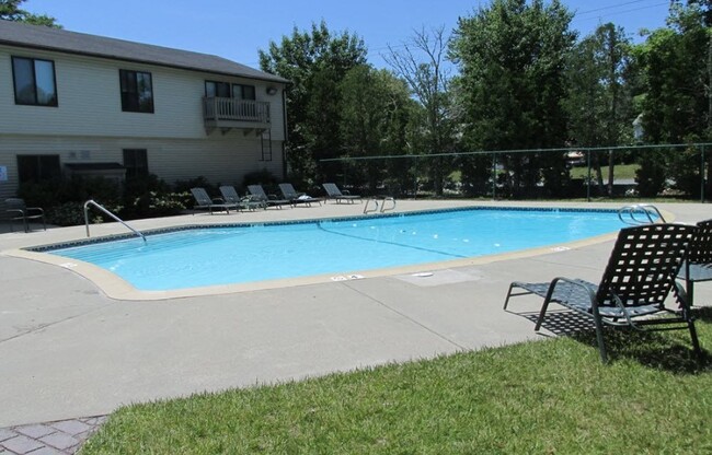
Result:
[[[203,98],[205,130],[209,135],[220,129],[225,135],[230,129],[241,129],[245,136],[255,136],[269,129],[269,103],[225,97]]]

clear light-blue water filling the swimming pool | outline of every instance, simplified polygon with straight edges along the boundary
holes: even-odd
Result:
[[[214,226],[51,253],[138,290],[348,273],[559,245],[616,232],[615,211],[476,209],[286,224]]]

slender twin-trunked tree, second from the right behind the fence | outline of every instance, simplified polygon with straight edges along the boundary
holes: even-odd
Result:
[[[630,138],[634,115],[627,78],[630,73],[630,39],[612,23],[599,25],[582,39],[567,65],[570,138],[575,145],[618,145]],[[593,156],[599,187],[602,172],[598,153]],[[613,153],[608,155],[608,194],[613,187]]]

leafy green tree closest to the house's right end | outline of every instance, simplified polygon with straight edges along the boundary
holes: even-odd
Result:
[[[260,50],[263,71],[288,79],[287,162],[297,182],[332,178],[333,168],[318,170],[321,159],[342,153],[338,140],[341,100],[337,84],[352,68],[366,62],[363,39],[346,32],[334,35],[322,21],[310,32],[294,28],[280,45]]]

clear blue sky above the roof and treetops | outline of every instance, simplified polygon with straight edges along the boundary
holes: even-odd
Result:
[[[66,30],[133,42],[214,54],[254,68],[257,49],[279,43],[322,19],[330,31],[360,36],[378,68],[388,46],[398,47],[414,30],[445,26],[472,16],[489,1],[462,0],[26,0],[22,8],[55,16]],[[583,35],[599,23],[623,26],[635,42],[638,31],[665,25],[669,0],[563,0],[576,12],[572,28]]]

